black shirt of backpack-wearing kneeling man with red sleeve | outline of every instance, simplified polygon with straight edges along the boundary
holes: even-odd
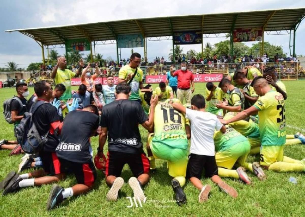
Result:
[[[55,106],[49,102],[45,102],[37,108],[33,115],[33,121],[40,136],[44,136],[50,130],[51,123],[59,121],[59,115]],[[55,134],[48,133],[47,142],[41,151],[55,152],[59,143],[59,138]]]

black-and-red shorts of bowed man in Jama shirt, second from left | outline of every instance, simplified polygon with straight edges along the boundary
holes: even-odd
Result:
[[[78,184],[92,187],[96,180],[96,170],[93,162],[82,164],[59,158],[61,171],[73,173]]]

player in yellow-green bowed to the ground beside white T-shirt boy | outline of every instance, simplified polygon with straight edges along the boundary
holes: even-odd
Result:
[[[218,175],[220,177],[232,177],[241,179],[246,184],[251,184],[249,177],[244,172],[249,170],[257,175],[260,180],[266,178],[258,162],[246,163],[250,152],[250,143],[245,136],[237,132],[234,128],[226,125],[226,132],[215,131],[214,144]],[[238,167],[232,170],[232,167]]]

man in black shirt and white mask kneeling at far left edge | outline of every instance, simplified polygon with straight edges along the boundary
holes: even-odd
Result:
[[[14,122],[14,136],[15,134],[15,127],[20,123],[21,119],[23,119],[23,114],[27,112],[27,97],[29,96],[29,91],[27,89],[26,83],[17,83],[16,84],[16,92],[17,98],[13,99],[11,102],[11,114],[12,114],[12,121]],[[21,153],[21,146],[18,145],[16,140],[6,140],[2,139],[0,141],[0,150],[1,149],[9,149],[12,152],[9,155],[13,154],[20,154]]]

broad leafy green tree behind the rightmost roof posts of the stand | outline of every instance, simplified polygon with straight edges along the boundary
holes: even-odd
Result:
[[[248,53],[252,54],[254,57],[260,55],[260,45],[261,43],[253,44],[252,47],[249,48]],[[286,57],[286,53],[284,53],[282,46],[276,46],[269,42],[264,42],[264,53],[267,53],[269,57],[274,57],[276,54],[278,54],[279,57]]]

